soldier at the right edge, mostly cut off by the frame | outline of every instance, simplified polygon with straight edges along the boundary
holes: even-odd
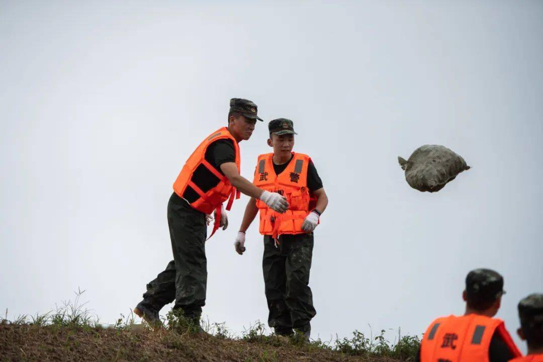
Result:
[[[514,362],[543,362],[543,294],[531,294],[519,303],[519,337],[528,343],[528,355]]]

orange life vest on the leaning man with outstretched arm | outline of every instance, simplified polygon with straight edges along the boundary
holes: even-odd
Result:
[[[194,150],[192,155],[188,157],[185,166],[183,166],[181,172],[179,173],[179,176],[177,176],[177,179],[173,184],[174,192],[178,194],[180,198],[183,197],[183,194],[185,193],[185,190],[187,188],[192,188],[194,192],[198,194],[198,199],[189,203],[194,209],[197,209],[198,211],[203,212],[206,215],[209,215],[213,212],[213,210],[216,210],[217,213],[215,217],[215,224],[211,236],[215,231],[217,231],[218,224],[220,224],[220,211],[223,202],[229,200],[226,209],[230,210],[234,198],[239,199],[239,191],[237,191],[236,188],[230,184],[228,177],[221,174],[216,168],[211,165],[211,163],[205,160],[205,151],[207,150],[207,147],[209,147],[212,142],[218,141],[219,139],[232,140],[234,149],[236,151],[236,165],[239,172],[241,166],[241,157],[239,155],[238,143],[236,139],[232,137],[228,129],[226,127],[223,127],[213,132],[211,135],[207,136],[204,141],[200,143],[200,145]],[[217,186],[212,187],[206,192],[204,192],[197,185],[197,183],[195,183],[195,181],[198,182],[198,180],[195,180],[194,172],[196,172],[197,170],[201,170],[201,168],[209,170],[209,172],[211,172],[217,177],[217,179],[219,179]]]

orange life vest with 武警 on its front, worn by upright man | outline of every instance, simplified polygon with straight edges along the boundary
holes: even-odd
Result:
[[[279,176],[273,168],[273,153],[258,156],[253,183],[269,192],[285,196],[288,210],[277,213],[261,200],[256,200],[260,210],[260,233],[271,235],[275,240],[281,234],[302,234],[302,223],[312,210],[315,199],[307,189],[307,168],[311,158],[304,154],[292,153],[292,159]]]

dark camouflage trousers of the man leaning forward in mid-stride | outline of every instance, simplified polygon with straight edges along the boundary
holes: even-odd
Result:
[[[199,320],[207,285],[205,214],[174,193],[168,202],[168,226],[174,259],[147,284],[143,299],[156,310],[175,300],[174,308]]]

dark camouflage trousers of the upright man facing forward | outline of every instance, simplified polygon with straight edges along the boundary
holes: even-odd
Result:
[[[310,330],[310,321],[317,314],[309,274],[313,255],[313,234],[287,235],[279,246],[264,236],[262,270],[268,301],[268,325],[275,333],[288,335],[292,329]]]

